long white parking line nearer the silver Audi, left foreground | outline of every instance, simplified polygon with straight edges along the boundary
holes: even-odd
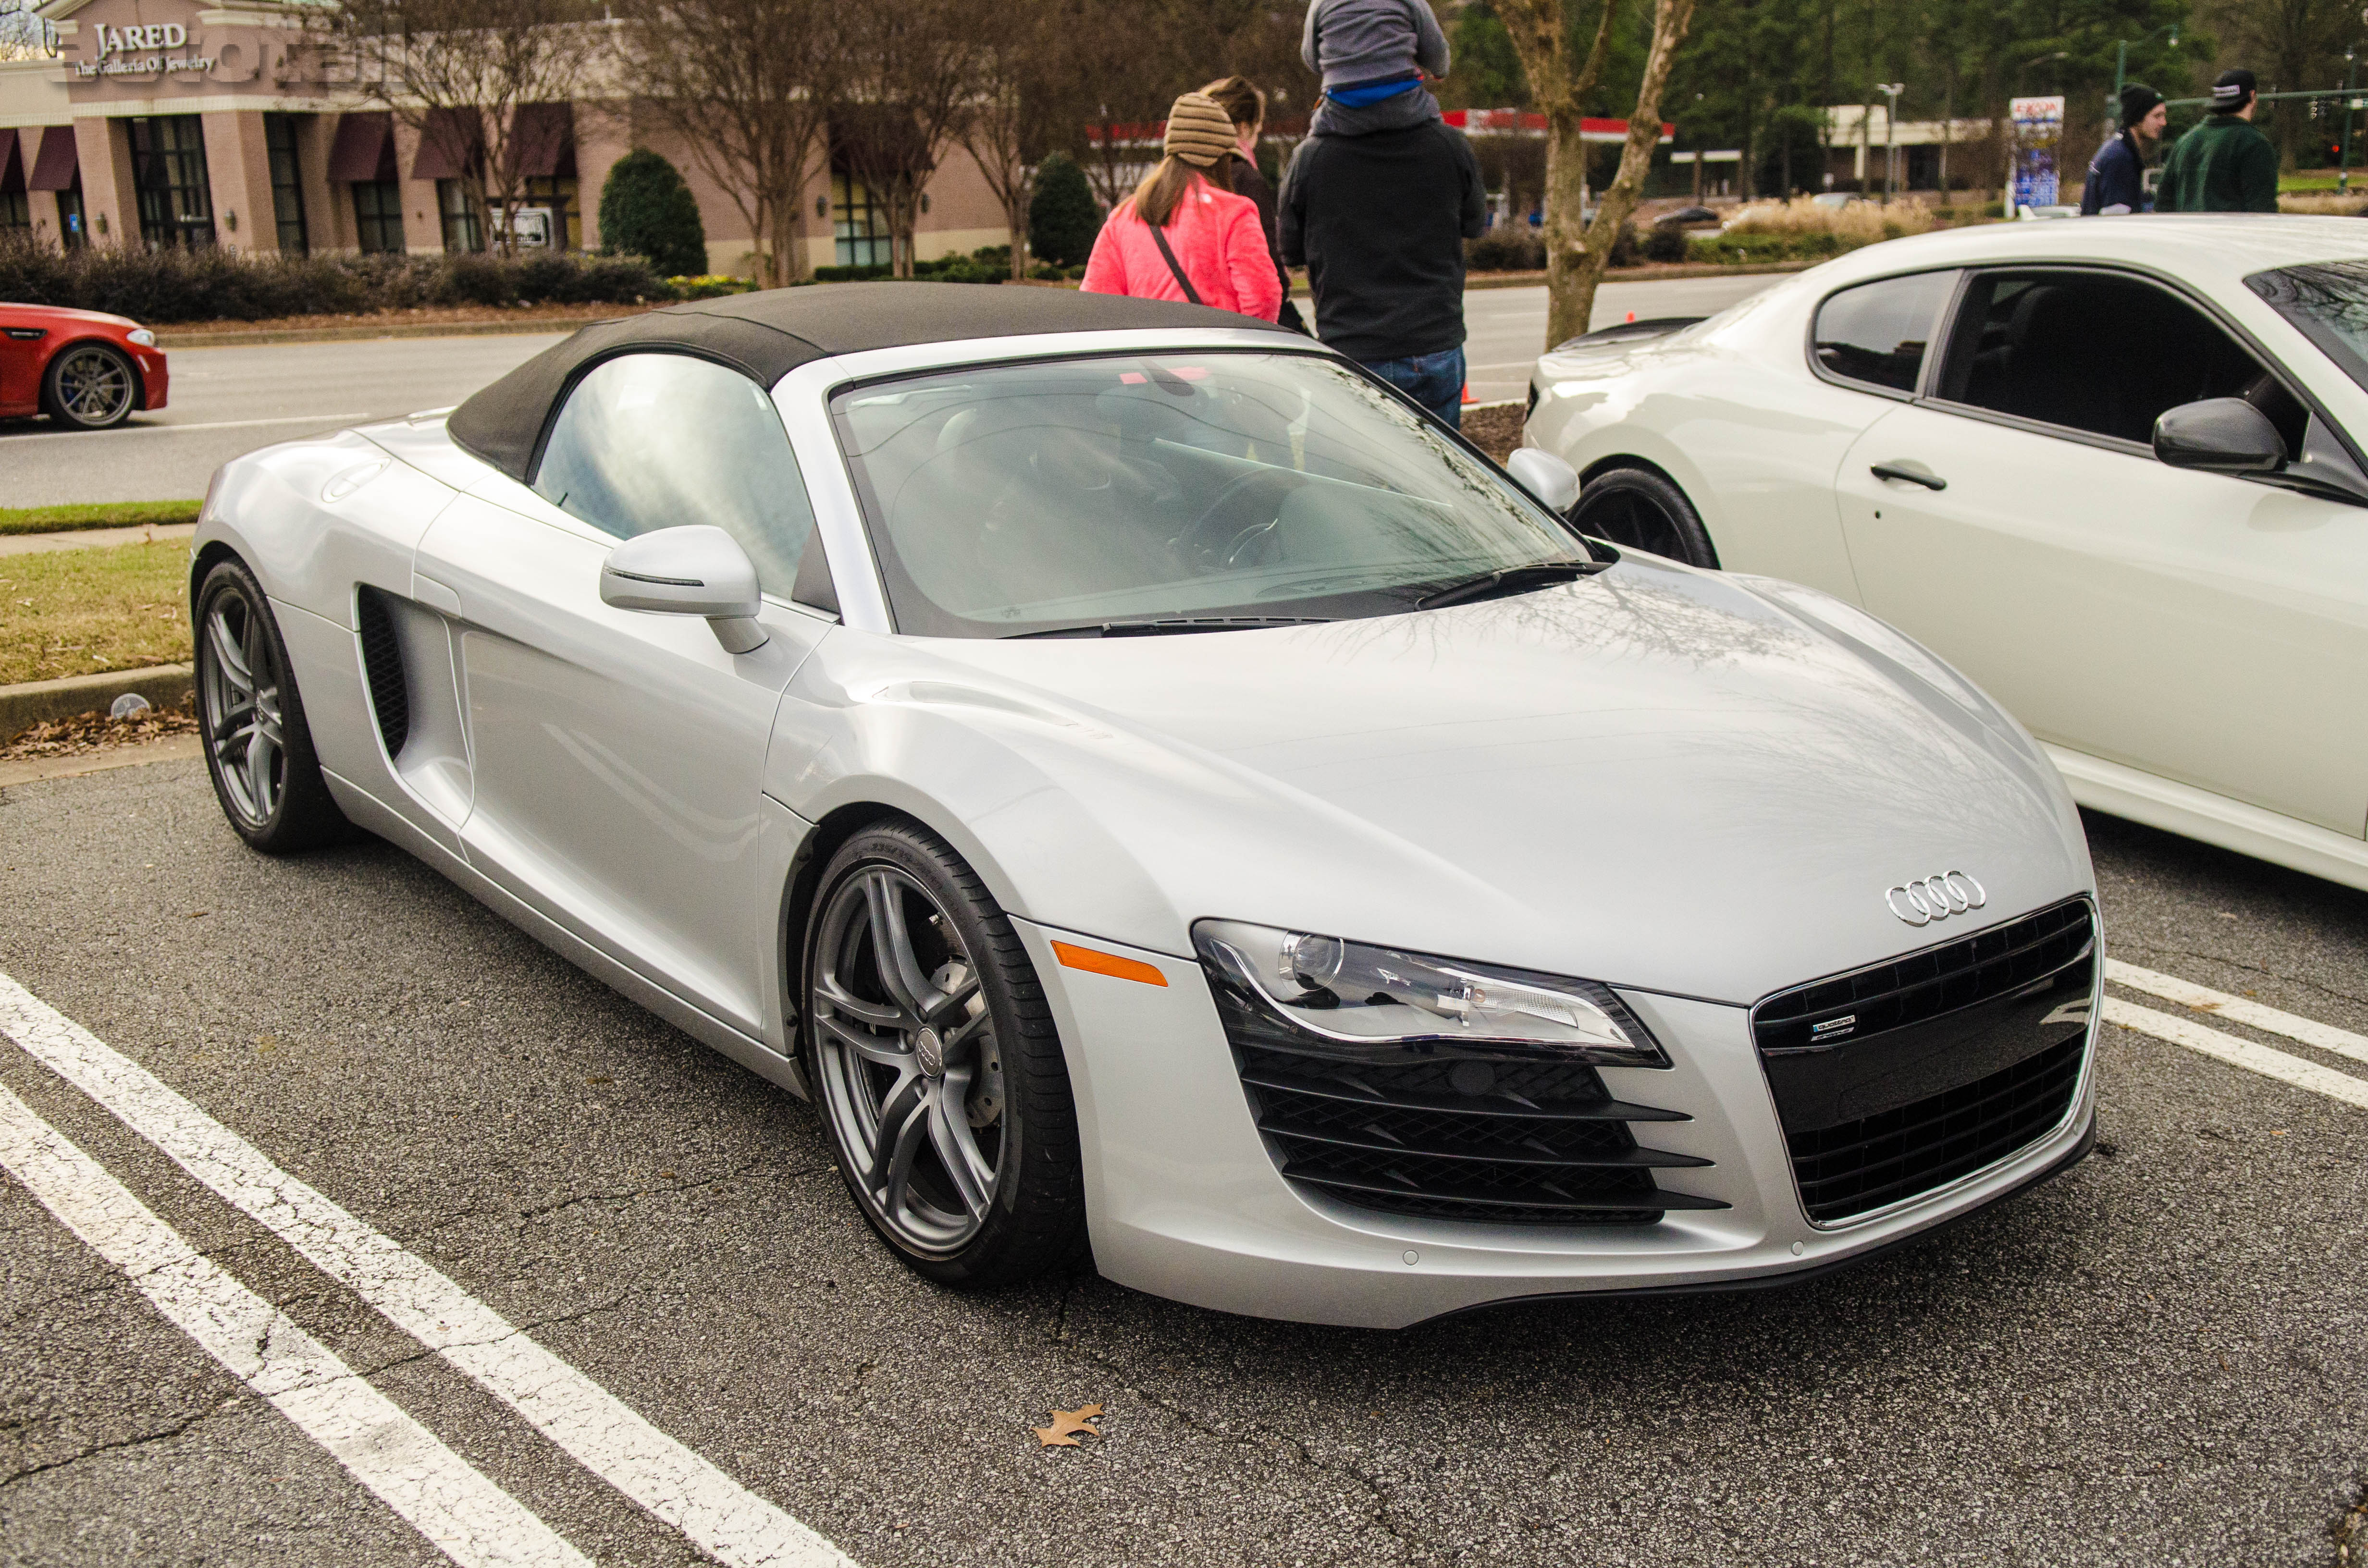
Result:
[[[0,973],[0,1033],[464,1371],[611,1487],[732,1568],[855,1568],[500,1312],[305,1187],[161,1078]]]

